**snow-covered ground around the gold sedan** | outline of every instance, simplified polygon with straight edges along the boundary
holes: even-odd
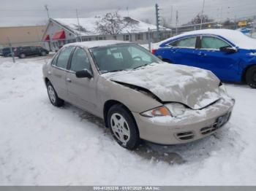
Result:
[[[256,90],[227,85],[230,122],[190,144],[124,149],[102,120],[50,104],[42,82],[48,58],[0,58],[1,185],[255,185]]]

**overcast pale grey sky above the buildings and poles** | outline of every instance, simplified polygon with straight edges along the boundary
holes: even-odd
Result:
[[[202,11],[203,0],[0,0],[0,26],[29,26],[46,23],[45,4],[50,17],[94,17],[119,10],[123,16],[155,23],[155,4],[160,16],[172,26],[189,22]],[[204,13],[214,20],[256,15],[255,0],[205,0]]]

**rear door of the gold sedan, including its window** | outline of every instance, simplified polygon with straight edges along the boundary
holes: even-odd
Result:
[[[50,82],[52,82],[59,97],[64,100],[67,100],[67,64],[69,63],[70,55],[74,48],[75,47],[64,47],[64,49],[59,52],[55,63],[52,63],[52,70],[48,71],[48,74],[50,74]]]

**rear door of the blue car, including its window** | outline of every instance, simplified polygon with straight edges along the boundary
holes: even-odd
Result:
[[[199,39],[199,37],[198,37]],[[157,50],[156,55],[161,55],[163,61],[171,63],[195,66],[198,50],[195,49],[197,36],[188,36],[165,44]]]

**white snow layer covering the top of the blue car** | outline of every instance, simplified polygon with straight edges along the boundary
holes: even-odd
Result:
[[[184,34],[173,36],[157,44],[160,45],[170,41],[171,39],[177,39],[183,36],[196,35],[196,34],[211,34],[211,35],[222,36],[228,41],[235,44],[237,47],[240,47],[243,49],[256,49],[256,39],[252,39],[251,37],[242,34],[241,31],[235,31],[230,29],[204,29],[204,30],[197,30],[197,31],[189,31],[189,32],[185,32]]]

